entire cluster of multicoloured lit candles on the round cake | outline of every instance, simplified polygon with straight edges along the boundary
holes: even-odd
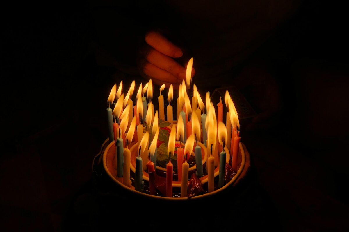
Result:
[[[191,70],[193,58],[187,65],[186,81],[183,80],[179,85],[179,93],[177,98],[177,127],[173,124],[173,110],[171,102],[173,99],[173,86],[170,85],[168,91],[167,106],[167,122],[170,123],[171,131],[168,142],[169,162],[166,165],[166,197],[172,197],[172,178],[173,164],[171,163],[171,155],[174,155],[175,143],[179,141],[177,149],[177,168],[178,181],[181,182],[181,197],[186,197],[188,189],[188,157],[192,155],[194,149],[196,161],[196,174],[203,177],[202,154],[199,143],[204,144],[207,154],[206,172],[208,174],[208,192],[214,191],[214,169],[219,166],[218,187],[224,186],[224,174],[226,164],[225,146],[230,151],[231,167],[237,171],[238,152],[240,142],[239,120],[236,108],[229,95],[225,93],[225,105],[227,106],[227,121],[223,123],[223,103],[217,104],[216,110],[211,102],[209,92],[206,93],[206,104],[195,86],[193,85],[192,98],[187,94],[187,89],[191,87]],[[154,113],[153,83],[151,79],[142,87],[142,83],[138,88],[136,95],[136,104],[133,105],[131,100],[135,88],[135,81],[132,82],[126,95],[122,92],[122,81],[119,88],[115,84],[108,98],[109,107],[107,108],[108,125],[109,125],[109,141],[114,141],[116,146],[116,167],[117,177],[123,177],[124,185],[131,187],[130,180],[130,163],[131,152],[128,145],[134,141],[138,143],[138,157],[136,157],[135,165],[135,190],[143,191],[143,170],[149,174],[149,190],[150,194],[155,195],[155,176],[156,176],[156,152],[157,140],[159,134],[159,119],[165,121],[164,97],[161,94],[165,85],[160,87],[160,95],[158,97],[159,111]],[[147,92],[147,98],[144,94]],[[110,106],[116,101],[114,109]],[[142,123],[143,122],[143,123]],[[146,133],[144,133],[146,127]],[[151,131],[153,140],[149,141]],[[150,146],[149,146],[150,143]],[[184,144],[184,149],[181,144]],[[194,145],[196,145],[194,147]],[[218,155],[219,153],[219,155]],[[148,162],[143,162],[148,160]]]

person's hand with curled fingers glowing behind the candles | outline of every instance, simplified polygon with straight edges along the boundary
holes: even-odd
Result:
[[[150,31],[145,37],[146,45],[141,48],[138,66],[141,75],[156,85],[170,84],[176,88],[186,78],[186,69],[173,58],[183,56],[181,48],[174,45],[158,32]],[[195,70],[192,70],[192,77]]]

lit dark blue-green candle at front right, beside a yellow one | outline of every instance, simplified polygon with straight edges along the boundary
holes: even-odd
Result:
[[[223,150],[220,153],[220,165],[219,165],[219,178],[218,178],[218,187],[224,186],[224,177],[225,177],[225,162],[227,159],[227,153],[224,151],[225,141],[228,140],[227,128],[223,122],[218,122],[218,141],[223,146]]]

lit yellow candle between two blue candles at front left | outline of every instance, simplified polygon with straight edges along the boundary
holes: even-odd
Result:
[[[128,149],[128,144],[131,143],[129,141],[132,141],[135,127],[136,127],[136,117],[133,117],[131,121],[131,125],[126,135],[126,148],[124,149],[124,185],[128,187],[131,186],[131,180],[130,180],[131,152]]]

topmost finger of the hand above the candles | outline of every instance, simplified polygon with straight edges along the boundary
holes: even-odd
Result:
[[[179,47],[174,45],[172,42],[170,42],[168,39],[163,37],[163,35],[158,32],[151,31],[147,33],[145,36],[145,40],[151,47],[155,48],[156,50],[167,56],[178,58],[183,55],[183,52]]]

